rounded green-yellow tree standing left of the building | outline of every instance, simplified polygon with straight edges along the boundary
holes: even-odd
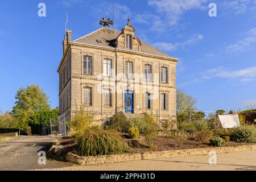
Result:
[[[18,126],[29,132],[27,129],[30,124],[34,124],[31,118],[38,112],[50,110],[48,97],[38,85],[20,88],[15,96],[16,102],[12,114],[18,121]]]

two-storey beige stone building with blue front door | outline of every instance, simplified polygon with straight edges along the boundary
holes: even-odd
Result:
[[[100,28],[77,40],[68,30],[59,73],[60,120],[82,105],[99,123],[122,112],[176,119],[178,59],[142,42],[130,20],[121,31]]]

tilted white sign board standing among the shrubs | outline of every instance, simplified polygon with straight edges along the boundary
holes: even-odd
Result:
[[[240,127],[238,114],[218,115],[221,125],[224,129],[232,129],[233,127]]]

